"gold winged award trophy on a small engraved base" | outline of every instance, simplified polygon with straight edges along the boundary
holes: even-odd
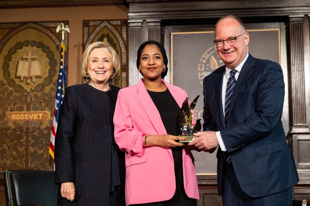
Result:
[[[200,120],[196,121],[196,125],[193,126],[193,109],[196,106],[197,99],[199,95],[193,100],[193,102],[188,106],[188,97],[184,100],[181,111],[179,113],[179,123],[180,129],[185,135],[181,135],[181,137],[185,137],[186,140],[180,140],[180,143],[188,144],[192,140],[196,139],[197,137],[193,135],[195,132],[199,132],[201,129]]]

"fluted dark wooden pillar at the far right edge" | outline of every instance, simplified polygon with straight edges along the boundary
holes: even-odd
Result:
[[[306,180],[310,174],[309,16],[289,17],[290,132],[287,139],[294,154],[299,178]]]

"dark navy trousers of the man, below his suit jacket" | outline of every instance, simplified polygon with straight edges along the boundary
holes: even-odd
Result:
[[[223,206],[291,206],[292,187],[263,197],[250,197],[244,193],[238,183],[232,163],[224,162],[222,175]]]

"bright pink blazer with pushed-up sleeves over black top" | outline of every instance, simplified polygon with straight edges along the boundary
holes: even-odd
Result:
[[[126,151],[126,205],[169,200],[175,193],[175,172],[170,148],[143,148],[144,134],[167,134],[160,114],[141,79],[118,92],[114,112],[114,137]],[[181,107],[187,94],[162,80]],[[199,199],[192,152],[183,148],[184,189],[188,197]]]

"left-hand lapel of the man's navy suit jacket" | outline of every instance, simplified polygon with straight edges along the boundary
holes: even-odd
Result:
[[[225,128],[224,112],[223,112],[223,103],[222,103],[222,88],[223,88],[223,76],[225,73],[225,66],[219,68],[219,72],[214,76],[215,84],[215,99],[217,105],[217,111],[219,113],[219,120],[221,127]]]

